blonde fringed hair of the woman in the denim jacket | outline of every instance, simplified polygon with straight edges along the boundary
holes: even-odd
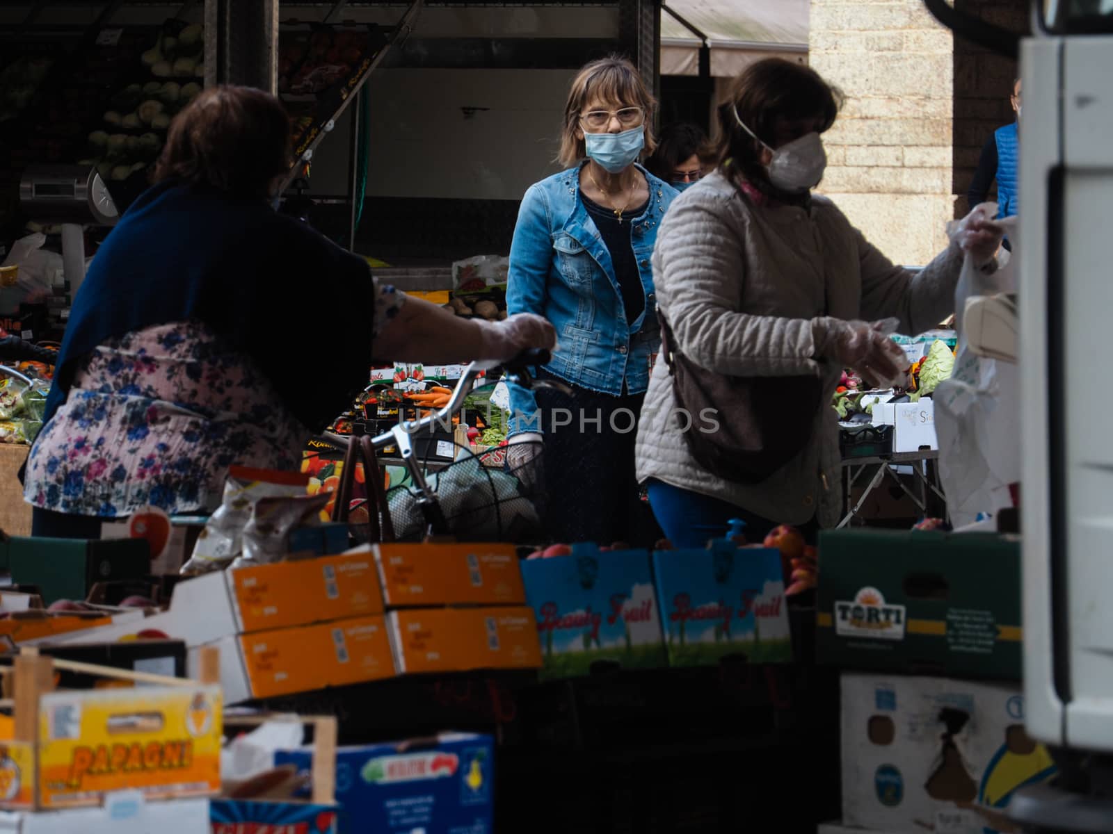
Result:
[[[592,99],[609,101],[615,107],[640,107],[644,112],[646,149],[652,153],[657,147],[653,138],[653,115],[657,101],[646,87],[637,68],[626,58],[610,56],[584,66],[572,79],[564,105],[564,127],[560,137],[560,153],[556,161],[565,168],[587,157],[584,140],[575,133],[580,130],[580,111]]]

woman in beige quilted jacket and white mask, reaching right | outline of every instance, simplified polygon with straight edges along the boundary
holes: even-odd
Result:
[[[709,529],[726,533],[733,517],[747,523],[751,542],[776,524],[814,529],[837,522],[830,397],[843,369],[902,381],[904,354],[878,320],[897,319],[904,334],[943,320],[954,307],[964,250],[987,271],[996,268],[1001,230],[979,211],[913,274],[875,249],[835,203],[812,195],[827,162],[820,136],[838,107],[838,93],[808,67],[780,59],[748,67],[719,108],[718,169],[678,198],[661,226],[653,280],[672,353],[653,369],[637,458],[674,545],[702,546]],[[686,406],[702,395],[674,385],[678,356],[705,391],[721,397],[711,404],[712,419],[695,415],[688,430],[676,418],[678,391]],[[807,396],[738,396],[771,379]],[[801,427],[786,436],[798,417]],[[756,448],[755,433],[725,439],[743,424],[761,427],[768,445]]]

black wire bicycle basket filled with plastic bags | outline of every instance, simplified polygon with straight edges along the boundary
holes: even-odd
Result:
[[[541,538],[541,447],[521,444],[514,454],[496,446],[476,451],[456,444],[456,458],[426,476],[447,522],[447,533],[461,542],[511,542]],[[532,460],[528,446],[533,446]],[[400,542],[421,540],[429,522],[420,504],[421,493],[412,484],[387,492],[391,518]]]

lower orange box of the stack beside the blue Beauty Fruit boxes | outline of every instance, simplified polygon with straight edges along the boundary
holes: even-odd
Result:
[[[541,667],[533,609],[421,608],[386,615],[398,674]]]

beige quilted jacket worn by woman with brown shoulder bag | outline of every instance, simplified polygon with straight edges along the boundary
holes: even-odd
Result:
[[[952,246],[919,274],[895,266],[833,202],[771,207],[743,195],[720,172],[678,197],[653,251],[661,314],[677,348],[692,361],[733,376],[815,374],[826,396],[799,455],[760,484],[722,480],[689,455],[672,380],[658,360],[638,430],[638,478],[658,478],[782,524],[837,523],[841,509],[838,423],[829,407],[841,368],[819,358],[824,316],[896,317],[918,334],[954,307],[962,252]],[[792,403],[769,403],[790,409]],[[719,420],[730,419],[730,404]],[[693,428],[711,420],[693,415]]]

